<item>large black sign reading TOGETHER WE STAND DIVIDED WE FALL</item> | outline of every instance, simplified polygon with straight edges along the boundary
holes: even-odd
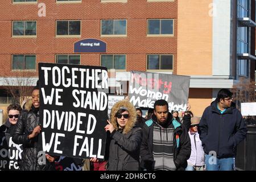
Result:
[[[39,63],[42,150],[104,159],[108,118],[105,67]]]

